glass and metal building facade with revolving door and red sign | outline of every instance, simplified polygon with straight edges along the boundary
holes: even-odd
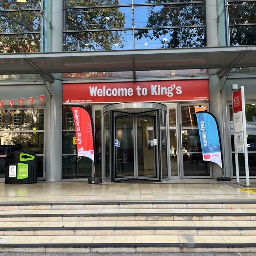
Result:
[[[16,150],[37,154],[38,180],[235,178],[233,84],[256,177],[255,45],[252,0],[0,3],[0,179]],[[93,116],[95,163],[72,105]],[[223,168],[203,160],[198,111],[217,119]]]

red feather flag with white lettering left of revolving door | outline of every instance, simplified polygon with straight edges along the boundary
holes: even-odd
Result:
[[[89,157],[94,162],[93,118],[82,106],[71,107],[75,122],[77,155]]]

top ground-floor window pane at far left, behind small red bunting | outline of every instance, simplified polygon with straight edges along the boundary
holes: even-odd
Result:
[[[44,130],[44,109],[0,110],[0,131]]]

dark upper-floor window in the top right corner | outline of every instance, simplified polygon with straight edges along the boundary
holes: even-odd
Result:
[[[230,45],[256,44],[256,1],[228,1]]]

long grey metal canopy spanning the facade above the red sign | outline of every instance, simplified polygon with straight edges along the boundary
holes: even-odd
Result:
[[[145,49],[97,52],[0,54],[1,74],[40,74],[53,82],[54,73],[256,67],[256,46]]]

